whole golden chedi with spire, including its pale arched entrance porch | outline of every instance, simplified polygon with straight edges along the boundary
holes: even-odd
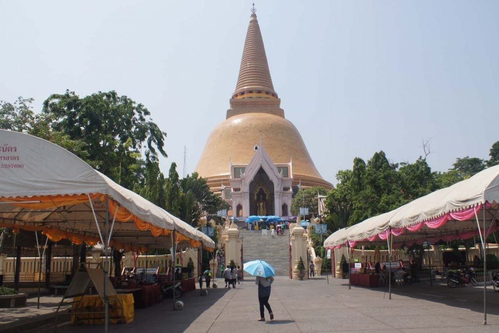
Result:
[[[293,186],[332,188],[296,127],[284,118],[254,12],[230,106],[226,120],[211,132],[196,171],[208,178],[212,191],[222,191],[233,216],[288,216]]]

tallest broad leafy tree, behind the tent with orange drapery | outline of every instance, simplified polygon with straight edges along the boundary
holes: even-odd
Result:
[[[122,186],[133,189],[141,169],[142,149],[146,161],[156,161],[164,150],[166,133],[150,118],[149,110],[115,91],[97,92],[80,98],[66,90],[43,102],[41,116],[51,131],[84,144],[90,165]]]

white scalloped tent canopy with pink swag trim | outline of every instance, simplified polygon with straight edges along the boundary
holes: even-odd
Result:
[[[494,166],[393,211],[349,227],[347,240],[352,243],[373,241],[385,243],[389,229],[394,234],[395,241],[401,243],[423,239],[436,241],[439,238],[472,237],[473,233],[478,235],[477,218],[483,219],[485,216],[487,231],[496,230],[498,223],[494,217],[499,207],[498,202],[499,166]],[[481,205],[486,205],[485,215],[479,212]],[[477,211],[477,215],[474,210]],[[446,221],[439,224],[439,219]],[[433,225],[431,222],[434,222]],[[411,226],[414,227],[419,223],[422,225],[417,231],[410,231]],[[337,243],[338,240],[339,242],[344,240],[344,233],[344,229],[333,233],[326,239],[324,246],[340,245]],[[335,245],[332,245],[333,240]]]

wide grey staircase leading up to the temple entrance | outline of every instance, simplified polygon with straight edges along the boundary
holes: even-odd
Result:
[[[261,236],[261,231],[240,230],[243,238],[243,262],[264,260],[275,269],[276,276],[289,276],[289,230],[283,236]]]

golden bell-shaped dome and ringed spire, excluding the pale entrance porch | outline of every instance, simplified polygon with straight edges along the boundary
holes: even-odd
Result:
[[[322,179],[296,127],[284,118],[274,91],[261,32],[253,12],[227,119],[210,134],[196,167],[212,191],[229,185],[230,164],[246,165],[261,144],[274,164],[291,164],[293,185],[332,188]]]

